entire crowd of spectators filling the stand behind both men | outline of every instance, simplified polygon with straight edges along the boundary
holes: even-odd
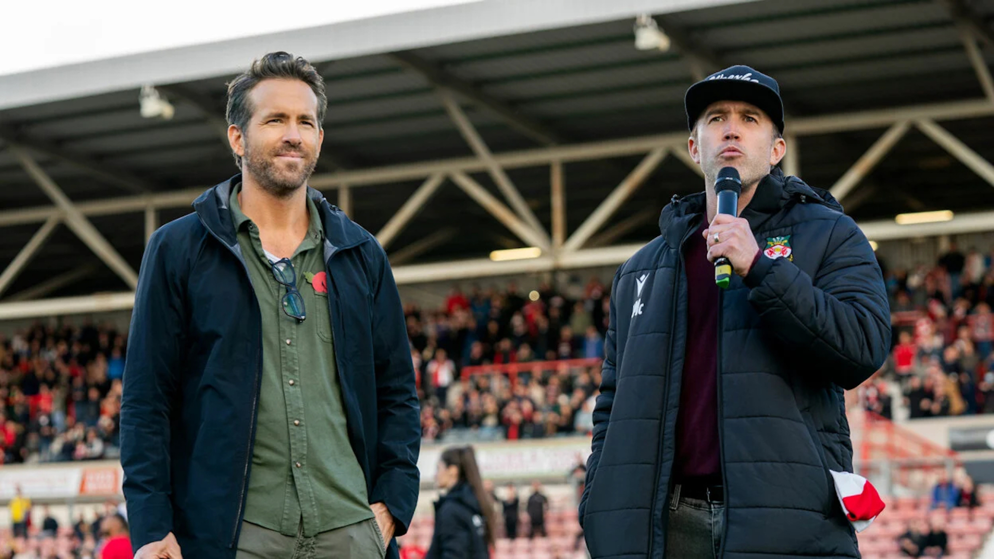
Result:
[[[860,389],[867,409],[887,418],[901,406],[911,418],[994,413],[992,256],[952,245],[933,266],[886,273],[894,347]],[[453,287],[439,308],[408,303],[424,440],[588,432],[608,301],[592,279],[574,298],[511,282]],[[115,458],[125,349],[123,332],[90,321],[0,333],[0,461]]]

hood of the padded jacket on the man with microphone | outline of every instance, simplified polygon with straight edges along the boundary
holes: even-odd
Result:
[[[795,176],[784,175],[779,167],[773,167],[773,170],[759,181],[755,194],[740,217],[748,220],[752,231],[756,231],[770,217],[795,202],[814,202],[842,211],[842,205],[829,191],[808,186]],[[673,199],[659,215],[659,231],[670,246],[680,245],[687,229],[703,217],[706,204],[705,192],[683,198],[673,195]]]

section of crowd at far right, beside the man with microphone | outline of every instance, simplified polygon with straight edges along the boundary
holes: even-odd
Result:
[[[994,251],[956,245],[934,266],[887,274],[891,358],[860,388],[888,419],[994,413]]]

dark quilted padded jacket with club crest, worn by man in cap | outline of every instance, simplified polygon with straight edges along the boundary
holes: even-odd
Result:
[[[592,557],[666,548],[665,510],[688,332],[680,247],[705,196],[674,197],[662,235],[618,269],[580,522]],[[726,495],[720,557],[859,557],[829,469],[852,471],[843,389],[887,358],[891,320],[873,250],[831,195],[778,170],[742,217],[761,256],[720,294],[718,413]],[[641,288],[639,287],[641,283]],[[637,313],[641,310],[641,313]]]

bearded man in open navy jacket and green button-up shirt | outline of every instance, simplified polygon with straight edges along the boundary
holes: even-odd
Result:
[[[307,187],[326,106],[307,61],[255,61],[228,90],[241,173],[149,241],[120,423],[138,559],[398,556],[414,370],[384,250]]]

